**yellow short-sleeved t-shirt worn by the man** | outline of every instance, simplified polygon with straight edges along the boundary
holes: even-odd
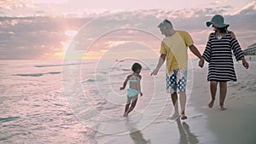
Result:
[[[166,55],[167,72],[188,67],[188,47],[193,43],[189,33],[184,31],[163,39],[160,54]]]

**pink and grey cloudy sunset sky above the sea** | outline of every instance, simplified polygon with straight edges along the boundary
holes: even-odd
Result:
[[[224,15],[225,23],[230,24],[229,30],[236,33],[242,49],[256,43],[254,26],[256,1],[253,0],[2,0],[0,1],[0,60],[62,59],[68,44],[77,33],[88,34],[104,26],[116,26],[118,24],[112,23],[111,18],[104,21],[99,21],[99,18],[106,14],[114,15],[125,11],[153,15],[158,20],[155,19],[146,27],[153,28],[156,32],[158,32],[156,25],[160,20],[171,20],[177,30],[191,34],[201,52],[207,43],[209,32],[212,32],[212,28],[208,28],[205,22],[211,20],[214,14]],[[132,26],[137,26],[140,21],[147,21],[148,17],[131,20],[127,21],[127,25],[131,22]],[[90,30],[83,30],[83,26],[87,28],[86,24],[92,23],[94,26],[91,26]],[[157,55],[160,49],[158,38],[162,37],[153,37],[145,28],[141,32],[119,30],[102,33],[102,36],[97,38],[88,34],[86,38],[94,40],[94,43],[87,43],[90,48],[73,50],[87,49],[85,55],[90,59],[97,59],[102,55],[113,59],[143,55],[143,58],[150,59]],[[125,55],[122,54],[130,47],[132,47],[130,52],[125,51]],[[155,55],[151,52],[145,55],[147,53],[144,52],[148,49],[155,52]]]

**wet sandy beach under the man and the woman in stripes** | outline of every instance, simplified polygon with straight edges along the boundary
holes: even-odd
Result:
[[[252,56],[253,57],[253,56]],[[253,57],[254,59],[255,57]],[[207,83],[207,64],[204,68],[194,67],[194,82],[187,102],[187,120],[170,121],[166,118],[172,112],[172,103],[168,100],[160,116],[143,130],[130,135],[99,135],[99,143],[135,143],[135,144],[254,144],[256,142],[256,61],[249,61],[250,68],[245,69],[236,62],[237,82],[228,83],[228,93],[224,106],[218,109],[218,93],[214,106],[207,107],[210,101]],[[165,82],[162,79],[162,82]],[[129,124],[136,129],[136,124]],[[106,142],[108,139],[111,142]]]

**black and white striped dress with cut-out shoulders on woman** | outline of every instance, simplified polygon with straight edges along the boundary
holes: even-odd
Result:
[[[209,63],[207,81],[236,82],[232,51],[236,60],[244,56],[238,41],[227,32],[224,37],[218,39],[215,33],[210,34],[203,58]]]

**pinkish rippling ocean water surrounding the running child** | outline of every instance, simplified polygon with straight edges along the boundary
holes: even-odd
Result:
[[[143,65],[143,96],[125,119],[126,90],[119,87],[136,61]],[[109,135],[140,135],[172,113],[164,68],[157,77],[150,76],[156,63],[1,60],[0,143],[118,143]],[[196,61],[190,61],[188,95],[194,68]]]

